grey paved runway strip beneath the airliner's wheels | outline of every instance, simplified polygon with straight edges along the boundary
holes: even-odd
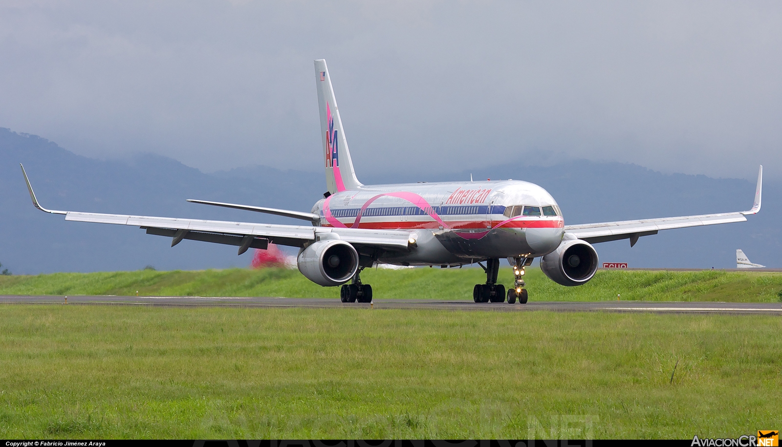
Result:
[[[63,304],[64,296],[0,295],[0,304]],[[535,302],[527,304],[476,303],[426,299],[376,299],[372,304],[343,303],[339,299],[317,298],[201,298],[186,296],[110,296],[74,295],[69,305],[100,304],[114,306],[221,306],[221,307],[302,307],[344,309],[447,309],[522,312],[553,310],[560,312],[653,312],[653,313],[730,313],[734,315],[782,315],[779,302]]]

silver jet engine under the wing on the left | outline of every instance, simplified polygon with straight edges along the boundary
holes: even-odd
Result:
[[[345,241],[317,241],[296,258],[299,271],[322,286],[335,286],[350,280],[358,269],[358,252]]]

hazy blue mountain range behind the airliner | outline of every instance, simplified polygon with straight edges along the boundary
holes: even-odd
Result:
[[[355,152],[356,149],[353,149]],[[364,154],[362,154],[364,155]],[[319,152],[314,156],[320,156]],[[353,154],[357,157],[357,154]],[[45,138],[0,128],[0,263],[14,274],[58,271],[195,270],[249,266],[252,251],[170,240],[135,227],[65,222],[30,203],[23,163],[42,206],[49,209],[302,224],[300,220],[196,205],[186,198],[310,211],[325,191],[322,172],[245,166],[203,173],[174,159],[142,154],[124,160],[78,156]],[[741,211],[752,206],[755,181],[666,174],[625,163],[573,160],[554,166],[509,162],[455,173],[359,172],[365,184],[494,178],[531,181],[546,188],[565,224]],[[631,267],[734,268],[736,249],[753,263],[782,267],[782,184],[763,185],[762,211],[740,224],[662,231],[596,245],[601,261]]]

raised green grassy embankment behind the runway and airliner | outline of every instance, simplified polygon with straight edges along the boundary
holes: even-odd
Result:
[[[378,299],[472,299],[473,284],[486,281],[479,268],[364,270]],[[509,268],[500,270],[500,282],[512,284]],[[724,301],[777,302],[782,300],[782,274],[704,270],[601,270],[579,287],[555,284],[539,269],[526,276],[530,299],[536,301]],[[298,270],[229,269],[205,271],[150,270],[93,274],[0,276],[2,295],[135,295],[142,296],[285,296],[338,298],[339,288],[322,288]]]

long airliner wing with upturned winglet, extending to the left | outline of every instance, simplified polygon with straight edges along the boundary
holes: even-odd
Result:
[[[21,166],[21,165],[20,165]],[[124,214],[80,213],[45,209],[38,203],[27,173],[22,166],[24,180],[33,205],[46,213],[63,214],[65,220],[92,222],[95,224],[116,224],[141,227],[147,234],[172,238],[171,246],[183,239],[238,245],[239,254],[247,249],[266,249],[268,243],[302,247],[307,241],[315,241],[321,234],[335,233],[343,241],[354,245],[369,245],[392,250],[409,249],[410,233],[394,230],[371,230],[361,228],[328,228],[302,225],[256,224],[249,222],[228,222],[224,220],[196,220],[175,217],[129,216]]]

